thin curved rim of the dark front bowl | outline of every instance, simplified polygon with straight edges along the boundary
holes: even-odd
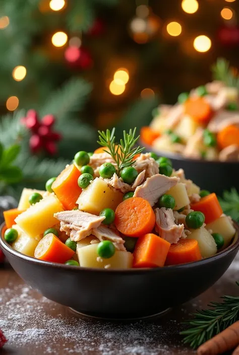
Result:
[[[60,268],[60,269],[70,269],[76,272],[99,272],[99,273],[121,273],[121,274],[140,274],[140,273],[144,273],[144,272],[157,272],[157,271],[163,271],[163,270],[184,270],[188,267],[197,267],[198,265],[204,265],[210,261],[213,260],[217,260],[220,259],[223,256],[226,256],[230,253],[232,253],[234,250],[239,248],[239,225],[233,221],[233,226],[236,230],[235,235],[233,237],[233,241],[232,243],[225,248],[224,250],[218,252],[217,254],[210,256],[209,258],[205,258],[199,261],[193,261],[193,262],[189,262],[186,264],[178,264],[178,265],[166,265],[163,267],[154,267],[154,268],[130,268],[130,269],[100,269],[100,268],[96,268],[96,267],[79,267],[79,266],[75,266],[75,265],[66,265],[66,264],[60,264],[60,263],[56,263],[56,262],[50,262],[50,261],[44,261],[44,260],[39,260],[36,259],[34,257],[25,255],[23,253],[20,253],[19,251],[14,250],[3,238],[2,236],[2,230],[5,227],[5,222],[2,223],[0,225],[0,247],[2,247],[2,249],[10,254],[12,254],[13,256],[17,257],[18,259],[23,259],[27,262],[30,263],[34,263],[34,264],[39,264],[42,266],[49,266],[49,267],[53,267],[53,268]]]

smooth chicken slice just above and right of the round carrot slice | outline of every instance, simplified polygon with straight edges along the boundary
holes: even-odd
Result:
[[[178,182],[177,177],[168,177],[161,174],[153,175],[138,186],[135,190],[134,197],[142,197],[149,201],[151,206],[154,206],[159,197],[167,192],[171,187]]]

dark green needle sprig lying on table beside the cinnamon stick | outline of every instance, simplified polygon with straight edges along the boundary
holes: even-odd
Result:
[[[236,282],[236,285],[239,286],[239,282]],[[222,299],[221,303],[211,302],[208,306],[212,309],[197,311],[193,314],[193,320],[185,322],[190,325],[189,329],[180,333],[186,335],[185,344],[188,343],[196,349],[239,320],[239,297],[223,296]]]

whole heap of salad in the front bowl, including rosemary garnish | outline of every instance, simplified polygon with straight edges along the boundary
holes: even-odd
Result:
[[[4,212],[4,239],[16,251],[78,268],[130,269],[185,264],[227,248],[235,229],[215,193],[182,169],[135,146],[136,129],[115,143],[99,131],[94,153],[46,182],[24,188],[18,208]]]

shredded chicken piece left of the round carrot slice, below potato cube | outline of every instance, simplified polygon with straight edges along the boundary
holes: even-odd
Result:
[[[54,217],[61,222],[60,230],[75,242],[92,234],[92,229],[97,228],[105,219],[80,210],[58,212]]]

